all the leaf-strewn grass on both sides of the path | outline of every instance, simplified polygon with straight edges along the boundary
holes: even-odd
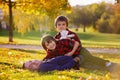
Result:
[[[41,36],[48,33],[53,36],[56,34],[56,32],[31,31],[21,35],[20,33],[14,32],[14,42],[8,43],[8,33],[6,31],[0,31],[0,44],[40,45]],[[77,34],[85,47],[120,48],[120,35],[117,34],[84,33],[81,31],[78,31]],[[120,61],[120,54],[93,53],[93,55],[112,62]],[[32,51],[0,48],[0,80],[85,80],[89,77],[96,80],[118,80],[112,78],[110,76],[111,74],[106,71],[71,69],[69,71],[38,73],[22,69],[23,62],[31,59],[41,60],[44,57],[45,52],[43,50]]]

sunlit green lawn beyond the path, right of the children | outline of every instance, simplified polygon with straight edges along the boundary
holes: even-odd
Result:
[[[76,33],[84,47],[120,48],[119,34],[81,32],[81,30]]]

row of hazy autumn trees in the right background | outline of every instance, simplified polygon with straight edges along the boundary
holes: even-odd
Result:
[[[70,22],[76,28],[83,26],[93,27],[102,33],[120,34],[120,3],[116,4],[92,4],[87,6],[75,6],[71,14],[67,15]]]

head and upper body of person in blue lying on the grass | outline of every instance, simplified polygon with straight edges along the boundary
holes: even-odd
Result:
[[[23,69],[31,71],[48,72],[53,70],[68,70],[75,66],[79,61],[79,57],[72,58],[70,56],[57,56],[49,60],[30,60],[23,64]]]

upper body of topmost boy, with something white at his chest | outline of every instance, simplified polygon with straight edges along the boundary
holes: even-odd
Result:
[[[55,27],[58,30],[58,34],[55,36],[56,39],[69,38],[77,41],[82,48],[82,44],[78,35],[68,29],[68,19],[65,16],[58,16],[55,19]]]

